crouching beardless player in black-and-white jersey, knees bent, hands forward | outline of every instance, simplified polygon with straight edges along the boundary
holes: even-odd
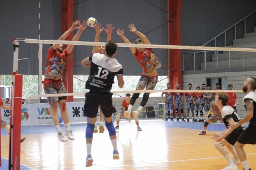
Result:
[[[234,148],[234,144],[236,143],[239,135],[243,132],[242,126],[238,126],[237,128],[228,128],[229,123],[239,122],[239,117],[236,111],[231,107],[227,106],[228,103],[228,95],[224,93],[218,93],[215,95],[215,104],[221,110],[221,117],[226,126],[226,130],[224,130],[221,134],[215,134],[212,139],[215,139],[215,147],[228,161],[228,165],[221,170],[237,170],[237,166],[241,162],[236,154],[236,150]],[[228,154],[228,150],[233,154],[234,161],[230,158]]]

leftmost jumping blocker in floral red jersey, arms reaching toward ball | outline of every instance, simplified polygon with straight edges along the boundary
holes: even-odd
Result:
[[[73,41],[77,41],[82,35],[82,32],[86,29],[86,27],[87,23],[85,21],[83,21],[83,23],[81,24],[79,20],[76,20],[72,23],[72,26],[63,35],[61,35],[58,40],[65,40],[70,33],[72,33],[75,29],[78,29],[76,35],[74,35],[74,37],[72,38]],[[74,45],[68,45],[66,49],[63,49],[63,44],[53,44],[48,49],[44,80],[44,90],[46,94],[67,93],[61,79],[67,55],[72,52],[73,48]],[[74,137],[71,133],[72,131],[69,125],[69,116],[66,109],[67,97],[48,97],[47,99],[50,103],[52,120],[58,132],[58,138],[62,142],[67,141],[67,137],[71,140],[74,140]],[[59,126],[57,103],[59,103],[61,118],[65,123],[65,135],[67,137],[63,135]]]

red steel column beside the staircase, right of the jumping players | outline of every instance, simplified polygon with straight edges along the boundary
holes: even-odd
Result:
[[[181,45],[181,12],[182,0],[167,0],[168,11],[172,11],[172,21],[168,22],[169,45]],[[168,18],[169,19],[169,18]],[[179,83],[182,88],[182,53],[181,49],[169,49],[168,51],[168,75],[171,88]]]

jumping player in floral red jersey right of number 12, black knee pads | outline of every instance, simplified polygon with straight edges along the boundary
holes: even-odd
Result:
[[[134,24],[129,24],[129,29],[131,32],[135,33],[140,38],[135,40],[135,44],[150,44],[148,38],[141,32],[137,31]],[[124,36],[124,29],[117,29],[117,34],[124,40],[125,43],[131,44],[131,42]],[[158,81],[158,73],[156,69],[161,67],[161,63],[158,58],[154,55],[152,48],[133,48],[130,47],[130,50],[137,62],[143,68],[143,73],[137,84],[136,90],[143,90],[146,87],[146,90],[154,90],[156,83]],[[130,104],[128,106],[128,110],[124,112],[124,116],[128,119],[130,118],[132,107],[138,99],[139,93],[134,93],[132,95]],[[143,107],[146,105],[149,98],[149,93],[144,93],[141,104],[137,110],[135,110],[132,114],[137,117]]]

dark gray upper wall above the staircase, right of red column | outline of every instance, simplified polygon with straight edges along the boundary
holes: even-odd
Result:
[[[182,0],[182,45],[202,46],[254,10],[255,0]]]

